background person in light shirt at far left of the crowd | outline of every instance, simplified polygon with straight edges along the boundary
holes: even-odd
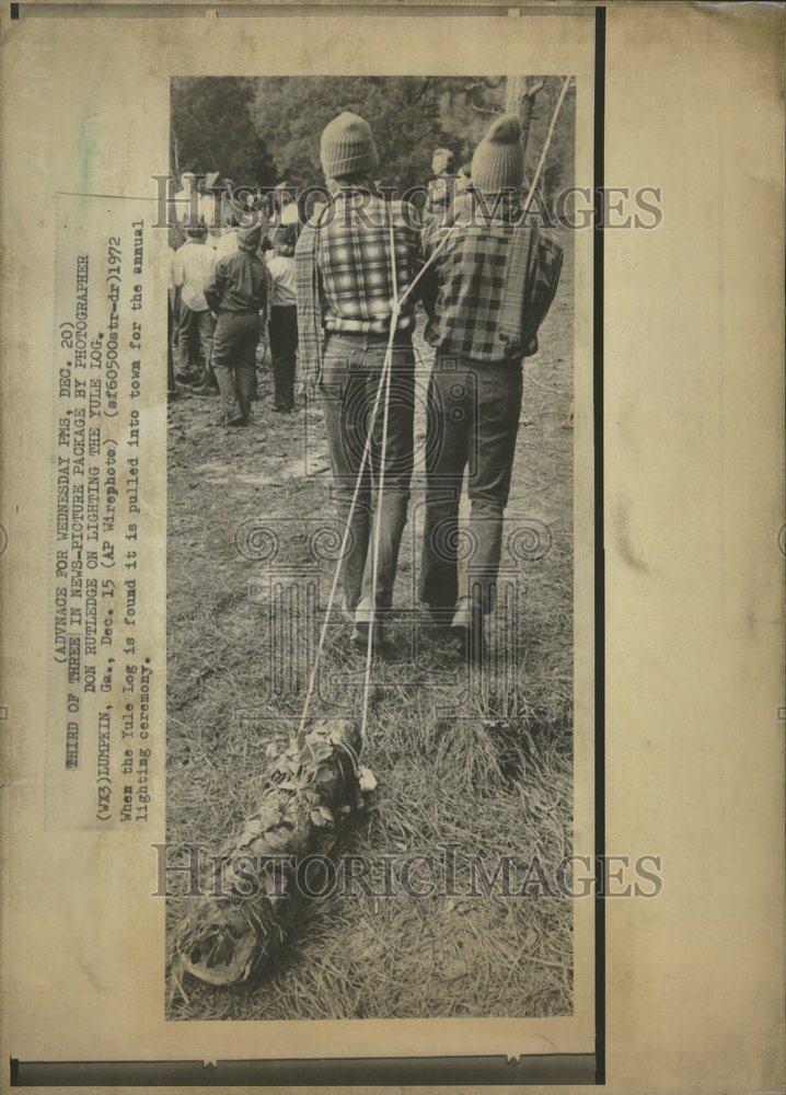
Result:
[[[176,379],[182,383],[196,382],[199,387],[209,382],[215,326],[205,298],[205,286],[216,256],[206,241],[205,224],[186,228],[186,242],[175,252],[172,270],[173,285],[181,293],[177,316],[180,369]]]

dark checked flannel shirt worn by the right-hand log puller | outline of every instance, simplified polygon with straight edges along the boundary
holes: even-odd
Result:
[[[490,362],[536,353],[538,327],[554,298],[562,251],[536,229],[519,228],[520,217],[518,207],[500,207],[490,215],[476,208],[475,223],[462,214],[452,226],[435,223],[426,230],[426,261],[440,249],[423,277],[426,339],[440,354]],[[521,242],[522,231],[527,245],[519,256],[515,244]],[[527,256],[533,253],[535,261],[529,263]],[[511,279],[519,297],[518,324],[511,323],[517,303],[509,292]],[[551,297],[543,291],[544,283]],[[510,337],[515,327],[519,337]]]

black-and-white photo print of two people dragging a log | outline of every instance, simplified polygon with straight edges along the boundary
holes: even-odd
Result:
[[[574,1014],[576,93],[171,82],[170,1019]]]

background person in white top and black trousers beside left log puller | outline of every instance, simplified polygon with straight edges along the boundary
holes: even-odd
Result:
[[[274,235],[276,254],[268,262],[273,284],[268,334],[273,357],[274,407],[284,413],[294,410],[294,360],[298,353],[298,296],[294,276],[297,239],[297,223],[281,223]]]

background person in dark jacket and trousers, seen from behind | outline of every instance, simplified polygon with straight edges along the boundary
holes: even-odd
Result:
[[[256,381],[259,312],[267,312],[270,275],[257,254],[258,226],[238,229],[238,247],[218,258],[205,297],[217,315],[212,367],[228,426],[245,426]]]

